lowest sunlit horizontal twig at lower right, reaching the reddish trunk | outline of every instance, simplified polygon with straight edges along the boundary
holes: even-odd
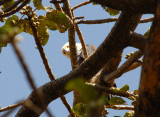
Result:
[[[105,108],[115,109],[115,110],[134,110],[134,106],[123,106],[123,105],[105,105]]]

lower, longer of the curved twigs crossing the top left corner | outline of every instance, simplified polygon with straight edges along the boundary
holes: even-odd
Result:
[[[3,18],[3,17],[8,17],[10,15],[13,15],[14,13],[18,12],[19,10],[21,10],[30,0],[25,0],[19,7],[13,9],[12,11],[10,12],[6,12],[4,14],[1,14],[0,15],[0,18]]]

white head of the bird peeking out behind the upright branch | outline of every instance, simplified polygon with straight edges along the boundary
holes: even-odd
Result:
[[[76,48],[77,48],[77,55],[80,54],[80,50],[82,49],[82,46],[80,43],[76,43]],[[62,46],[62,54],[66,56],[67,58],[70,58],[70,50],[69,50],[69,43],[67,42]]]

